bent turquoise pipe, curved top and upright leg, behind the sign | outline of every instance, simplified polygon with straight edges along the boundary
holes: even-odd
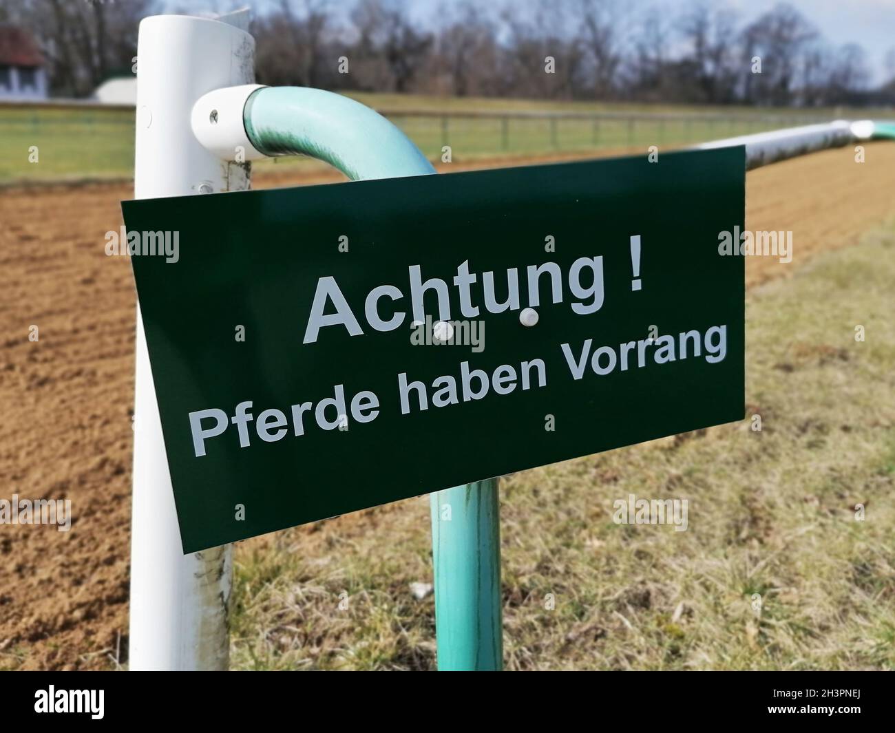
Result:
[[[435,173],[385,117],[321,89],[257,89],[243,125],[260,153],[318,158],[354,181]],[[498,480],[433,492],[430,507],[439,669],[502,669]]]

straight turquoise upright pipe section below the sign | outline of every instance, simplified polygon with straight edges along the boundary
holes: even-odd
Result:
[[[503,669],[498,480],[430,494],[440,671]]]

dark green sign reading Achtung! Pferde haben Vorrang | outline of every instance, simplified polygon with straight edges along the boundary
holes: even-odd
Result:
[[[184,552],[742,419],[744,183],[735,148],[125,201]]]

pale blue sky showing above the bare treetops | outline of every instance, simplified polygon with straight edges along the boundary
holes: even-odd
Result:
[[[636,2],[637,0],[635,0]],[[188,7],[192,10],[208,7],[232,7],[249,5],[261,10],[274,7],[279,0],[163,0],[168,6]],[[301,0],[293,0],[300,6]],[[440,9],[461,4],[461,0],[404,0],[413,18],[423,25],[437,23]],[[494,8],[504,6],[502,0],[479,0],[482,7]],[[556,0],[565,4],[570,0]],[[629,0],[620,0],[629,2]],[[735,10],[740,22],[753,21],[765,11],[770,10],[779,0],[708,0],[711,4],[720,4]],[[331,0],[337,11],[354,6],[354,2]],[[679,13],[689,0],[639,0],[639,4],[655,7],[669,13]],[[864,47],[867,62],[873,73],[873,83],[885,81],[895,69],[887,69],[886,55],[895,49],[895,0],[788,0],[797,10],[805,15],[823,33],[833,45],[858,43]]]

